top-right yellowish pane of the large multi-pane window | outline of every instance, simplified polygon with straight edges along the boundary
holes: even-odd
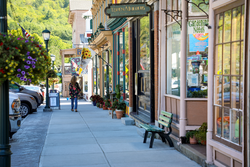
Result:
[[[233,9],[232,41],[240,40],[241,6]]]

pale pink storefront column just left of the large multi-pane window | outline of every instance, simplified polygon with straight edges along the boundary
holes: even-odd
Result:
[[[210,0],[209,4],[212,4],[213,0]],[[213,53],[214,53],[214,10],[212,7],[209,7],[209,26],[212,29],[209,29],[209,43],[208,43],[208,99],[207,99],[207,163],[213,163],[213,147],[209,145],[209,140],[212,140],[213,135]]]

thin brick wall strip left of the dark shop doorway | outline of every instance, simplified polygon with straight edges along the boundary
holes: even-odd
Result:
[[[133,107],[133,52],[132,52],[132,27],[128,28],[129,40],[129,107]]]

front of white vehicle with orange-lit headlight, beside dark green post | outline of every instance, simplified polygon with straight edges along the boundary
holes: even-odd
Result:
[[[19,113],[21,101],[17,94],[9,92],[9,136],[12,138],[13,134],[21,127],[21,115]]]

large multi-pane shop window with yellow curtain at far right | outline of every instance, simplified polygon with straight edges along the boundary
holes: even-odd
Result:
[[[242,144],[244,5],[216,15],[215,135]]]

